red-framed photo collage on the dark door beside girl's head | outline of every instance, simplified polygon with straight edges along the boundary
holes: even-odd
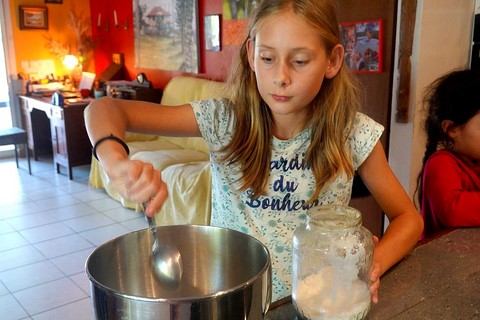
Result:
[[[382,72],[383,23],[368,20],[340,23],[345,63],[355,73]]]

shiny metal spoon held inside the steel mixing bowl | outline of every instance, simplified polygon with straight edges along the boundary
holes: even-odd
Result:
[[[146,208],[147,204],[142,204],[144,214]],[[177,248],[165,244],[159,244],[155,219],[146,214],[145,219],[147,220],[148,228],[153,237],[152,253],[150,256],[153,265],[153,272],[162,284],[175,287],[179,284],[182,278],[182,256]]]

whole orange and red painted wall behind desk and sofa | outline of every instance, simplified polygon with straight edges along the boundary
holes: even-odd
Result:
[[[132,80],[135,76],[144,72],[155,87],[163,88],[165,84],[180,72],[138,69],[135,67],[134,35],[133,35],[133,0],[63,0],[63,4],[45,4],[44,0],[9,0],[12,14],[13,36],[15,42],[15,54],[17,70],[22,73],[22,61],[30,60],[55,60],[57,75],[68,74],[60,59],[57,59],[46,48],[46,35],[64,43],[75,43],[73,31],[67,25],[69,10],[75,10],[81,15],[90,18],[90,30],[95,49],[91,53],[91,59],[86,65],[86,71],[100,74],[111,61],[113,53],[124,55],[127,70],[126,80]],[[18,22],[18,6],[46,6],[48,8],[48,30],[20,30]],[[113,10],[117,11],[119,28],[113,27]],[[213,80],[225,80],[232,57],[236,54],[237,46],[226,46],[222,43],[220,52],[204,50],[203,19],[208,14],[222,14],[222,0],[199,0],[199,48],[200,48],[200,72],[194,74]],[[98,14],[102,16],[102,24],[109,20],[110,29],[97,28]],[[129,27],[123,28],[124,21],[128,21]],[[223,23],[223,21],[222,21]],[[223,37],[223,35],[221,35]]]

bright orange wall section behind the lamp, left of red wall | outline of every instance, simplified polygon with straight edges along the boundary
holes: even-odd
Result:
[[[72,44],[76,47],[74,32],[67,26],[67,18],[70,10],[74,10],[79,15],[90,17],[89,1],[63,0],[63,4],[45,4],[44,0],[9,0],[11,21],[13,29],[13,40],[15,46],[17,71],[23,73],[22,61],[31,60],[54,60],[55,71],[58,76],[68,74],[69,71],[63,66],[62,61],[58,59],[46,47],[46,35],[53,39]],[[19,28],[19,6],[43,6],[48,9],[48,30],[20,30]],[[91,33],[91,30],[88,30]],[[93,59],[85,66],[85,71],[93,71],[95,64]]]

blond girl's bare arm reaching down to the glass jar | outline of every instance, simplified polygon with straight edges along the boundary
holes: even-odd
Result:
[[[376,302],[379,277],[412,250],[423,231],[423,219],[393,174],[380,142],[358,168],[358,173],[390,222],[375,246],[372,290]]]

